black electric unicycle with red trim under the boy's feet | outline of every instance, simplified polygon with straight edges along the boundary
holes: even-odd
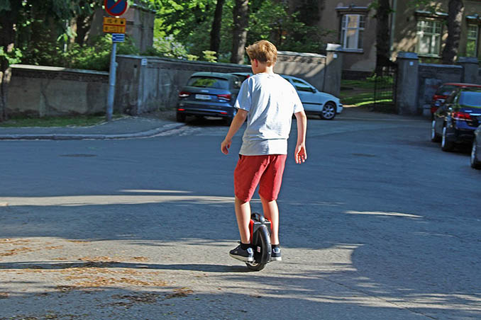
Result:
[[[270,262],[270,255],[272,254],[271,228],[270,221],[265,219],[264,216],[259,213],[250,215],[250,244],[254,251],[254,261],[245,263],[250,270],[260,271]]]

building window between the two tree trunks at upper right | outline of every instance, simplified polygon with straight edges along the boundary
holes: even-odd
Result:
[[[418,21],[416,52],[438,57],[440,48],[441,21]]]

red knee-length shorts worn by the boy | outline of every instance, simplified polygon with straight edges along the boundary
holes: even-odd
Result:
[[[234,170],[234,193],[239,200],[250,201],[259,185],[259,195],[267,201],[277,199],[282,184],[286,154],[243,156],[239,154]]]

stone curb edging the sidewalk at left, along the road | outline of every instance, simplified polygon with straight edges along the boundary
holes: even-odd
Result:
[[[108,139],[133,139],[146,138],[158,135],[162,132],[176,130],[184,127],[185,124],[174,125],[172,127],[157,127],[156,129],[136,133],[121,133],[114,135],[101,134],[17,134],[0,135],[0,140],[108,140]]]

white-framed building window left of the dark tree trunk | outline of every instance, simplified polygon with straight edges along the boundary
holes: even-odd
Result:
[[[363,50],[365,16],[345,14],[341,21],[341,42],[346,50]]]

